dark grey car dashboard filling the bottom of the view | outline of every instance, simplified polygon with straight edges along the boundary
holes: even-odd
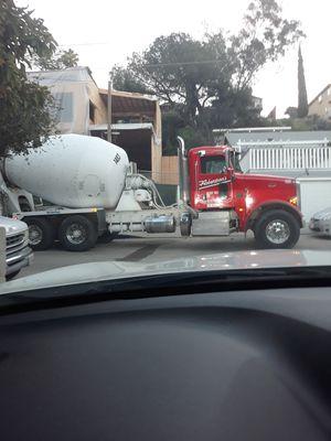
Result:
[[[0,318],[3,440],[324,440],[329,288],[72,304]]]

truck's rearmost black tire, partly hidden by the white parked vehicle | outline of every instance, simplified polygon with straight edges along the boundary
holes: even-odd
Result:
[[[47,219],[26,217],[23,220],[29,226],[29,245],[34,251],[42,251],[52,247],[55,229]],[[38,237],[38,233],[41,237]]]

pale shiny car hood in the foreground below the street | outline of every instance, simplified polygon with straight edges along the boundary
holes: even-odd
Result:
[[[185,257],[174,260],[158,261],[156,263],[99,261],[57,268],[2,283],[0,286],[0,294],[106,280],[129,279],[141,276],[318,266],[330,266],[331,271],[330,251],[236,251]]]

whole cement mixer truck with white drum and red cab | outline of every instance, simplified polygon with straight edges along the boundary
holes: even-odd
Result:
[[[258,247],[296,245],[302,216],[295,180],[244,174],[228,146],[186,151],[179,138],[178,152],[179,196],[167,206],[120,147],[94,137],[51,137],[2,162],[2,212],[29,225],[34,250],[58,240],[85,251],[105,235],[175,230],[220,237],[252,229]]]

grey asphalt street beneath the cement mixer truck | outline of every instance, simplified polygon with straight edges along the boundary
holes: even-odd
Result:
[[[243,234],[235,234],[223,238],[182,238],[177,235],[121,236],[109,244],[97,244],[95,248],[85,252],[64,251],[56,245],[50,250],[36,251],[34,252],[34,261],[31,267],[23,269],[18,277],[70,265],[95,261],[156,262],[178,259],[180,257],[254,249],[256,249],[256,246],[253,236],[248,235],[245,238]],[[303,232],[296,249],[324,249],[331,251],[331,238]]]

